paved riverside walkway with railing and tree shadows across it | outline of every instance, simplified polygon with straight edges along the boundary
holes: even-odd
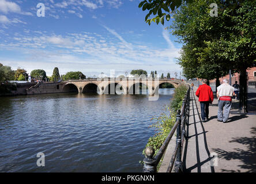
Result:
[[[182,151],[186,173],[256,172],[256,115],[230,114],[226,123],[217,121],[218,101],[209,106],[209,121],[201,121],[201,108],[191,90],[189,125]],[[232,99],[231,112],[237,111]],[[159,169],[165,173],[175,148],[170,141]]]

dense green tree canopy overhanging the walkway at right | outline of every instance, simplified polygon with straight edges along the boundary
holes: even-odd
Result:
[[[210,17],[211,2],[180,6],[170,26],[185,44],[179,64],[187,78],[219,78],[256,62],[256,2],[241,1],[230,9],[229,1],[214,1],[218,17]]]

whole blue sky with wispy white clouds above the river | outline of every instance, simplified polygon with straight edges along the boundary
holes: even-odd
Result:
[[[44,3],[45,17],[37,17]],[[0,0],[0,63],[52,75],[116,76],[133,69],[174,76],[181,45],[164,26],[145,23],[140,0]]]

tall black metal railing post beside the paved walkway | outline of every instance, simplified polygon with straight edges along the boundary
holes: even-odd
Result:
[[[181,173],[183,171],[183,163],[181,161],[181,136],[180,136],[180,110],[178,110],[176,115],[176,121],[179,121],[178,127],[177,127],[177,137],[176,137],[176,145],[178,145],[178,151],[177,151],[177,158],[175,161],[175,173]]]

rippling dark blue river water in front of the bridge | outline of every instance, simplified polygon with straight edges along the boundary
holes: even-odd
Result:
[[[42,94],[0,98],[0,171],[141,172],[150,118],[173,89],[148,95]],[[46,155],[37,167],[36,155]]]

